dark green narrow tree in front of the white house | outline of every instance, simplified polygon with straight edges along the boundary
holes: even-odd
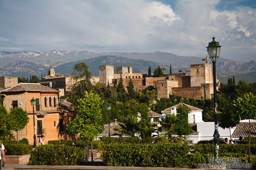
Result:
[[[188,124],[188,112],[189,109],[183,105],[179,105],[177,108],[177,122],[175,123],[174,131],[179,136],[184,136],[184,143],[186,136],[190,135],[193,130]]]

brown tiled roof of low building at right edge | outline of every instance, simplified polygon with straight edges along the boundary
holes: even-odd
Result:
[[[233,137],[249,136],[249,122],[240,122],[232,134]],[[256,122],[251,122],[251,136],[256,136]]]

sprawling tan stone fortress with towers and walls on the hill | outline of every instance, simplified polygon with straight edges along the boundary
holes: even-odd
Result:
[[[190,71],[156,78],[142,77],[141,73],[132,73],[132,67],[116,67],[116,74],[114,74],[114,65],[99,66],[99,83],[101,85],[118,84],[120,77],[123,78],[125,88],[130,79],[134,84],[134,89],[137,90],[143,90],[150,85],[156,86],[157,99],[169,98],[170,94],[195,99],[213,97],[213,73],[208,57],[204,64],[190,65]],[[220,82],[217,80],[215,88],[218,89],[219,86]]]

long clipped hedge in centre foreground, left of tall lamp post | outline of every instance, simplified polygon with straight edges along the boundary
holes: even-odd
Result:
[[[178,144],[103,144],[101,159],[109,166],[181,167],[188,145]]]

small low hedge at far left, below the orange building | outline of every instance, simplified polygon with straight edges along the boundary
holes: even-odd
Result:
[[[33,146],[30,144],[4,144],[6,155],[27,155],[30,154]]]

